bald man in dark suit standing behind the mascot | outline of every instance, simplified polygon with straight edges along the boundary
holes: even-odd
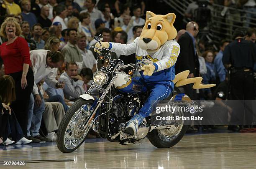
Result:
[[[191,21],[187,23],[186,32],[179,38],[180,45],[179,58],[175,64],[175,74],[189,70],[188,78],[199,77],[199,61],[195,45],[195,37],[197,36],[198,24]],[[197,100],[196,90],[192,88],[193,84],[183,86],[185,93],[192,99]]]

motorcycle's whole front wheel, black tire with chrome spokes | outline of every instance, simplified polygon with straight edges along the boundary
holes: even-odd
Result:
[[[92,121],[88,123],[92,100],[79,98],[64,115],[57,133],[57,147],[63,153],[70,153],[76,150],[85,140]]]

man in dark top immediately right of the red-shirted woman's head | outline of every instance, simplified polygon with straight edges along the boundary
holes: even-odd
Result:
[[[29,33],[30,33],[30,28],[29,28],[28,21],[22,21],[20,26],[21,26],[21,30],[22,30],[22,33],[21,33],[20,36],[27,40],[28,47],[29,47],[30,50],[35,50],[36,49],[36,42],[34,40],[31,40],[31,39],[28,38]]]

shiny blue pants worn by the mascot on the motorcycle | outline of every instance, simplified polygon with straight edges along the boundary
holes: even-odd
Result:
[[[144,86],[143,91],[150,91],[144,106],[139,111],[139,114],[145,118],[154,111],[159,101],[164,100],[172,93],[174,83],[172,81],[145,82],[142,77],[136,77],[135,79],[141,83],[140,85]]]

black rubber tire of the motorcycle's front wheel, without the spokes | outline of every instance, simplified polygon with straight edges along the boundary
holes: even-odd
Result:
[[[69,121],[72,119],[72,117],[77,112],[77,110],[79,110],[79,108],[81,108],[81,106],[83,106],[84,104],[88,104],[88,105],[92,106],[93,102],[94,102],[93,100],[84,100],[82,98],[79,98],[77,101],[74,102],[74,104],[68,109],[68,111],[64,115],[64,117],[61,120],[61,123],[59,125],[59,130],[58,130],[57,139],[56,139],[57,147],[61,152],[70,153],[70,152],[76,150],[81,144],[83,144],[83,142],[86,139],[86,136],[89,132],[86,134],[86,136],[84,137],[84,139],[81,141],[81,143],[79,145],[77,145],[73,149],[67,149],[67,147],[64,144],[66,129],[69,124]]]

